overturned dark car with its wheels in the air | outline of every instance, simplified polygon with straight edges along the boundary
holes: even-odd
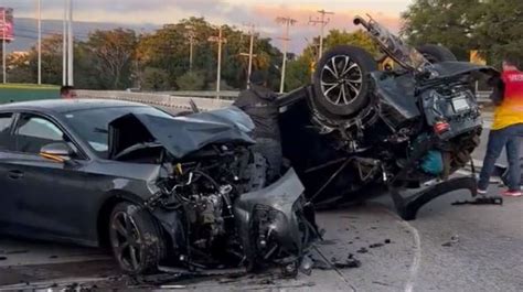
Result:
[[[355,18],[396,68],[355,46],[318,62],[310,86],[279,99],[284,154],[318,206],[388,192],[405,219],[457,188],[476,195],[473,177],[450,180],[479,144],[482,119],[473,83],[499,73],[457,62],[439,45],[407,46],[373,19]],[[401,192],[440,181],[415,196]]]

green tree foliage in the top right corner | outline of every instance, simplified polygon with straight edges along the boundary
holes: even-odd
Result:
[[[442,44],[460,60],[477,50],[493,66],[506,54],[523,61],[521,0],[416,0],[402,18],[414,45]]]

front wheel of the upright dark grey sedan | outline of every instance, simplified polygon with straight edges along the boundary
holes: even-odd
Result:
[[[164,240],[150,213],[130,203],[115,206],[109,221],[113,253],[130,274],[154,271],[164,257]]]

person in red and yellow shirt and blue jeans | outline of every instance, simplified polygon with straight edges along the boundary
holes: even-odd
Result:
[[[523,72],[520,71],[516,58],[512,56],[504,58],[501,80],[498,82],[495,91],[499,91],[502,99],[495,100],[494,122],[489,133],[487,153],[478,182],[478,194],[487,194],[495,161],[505,148],[509,161],[506,177],[509,190],[502,194],[517,197],[522,196],[520,147],[523,137]]]

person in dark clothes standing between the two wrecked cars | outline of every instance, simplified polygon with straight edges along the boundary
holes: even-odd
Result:
[[[277,95],[267,88],[266,72],[253,72],[249,83],[250,88],[239,93],[233,106],[238,107],[253,119],[255,125],[253,134],[256,140],[253,150],[267,159],[267,179],[273,182],[280,174],[282,163]]]

